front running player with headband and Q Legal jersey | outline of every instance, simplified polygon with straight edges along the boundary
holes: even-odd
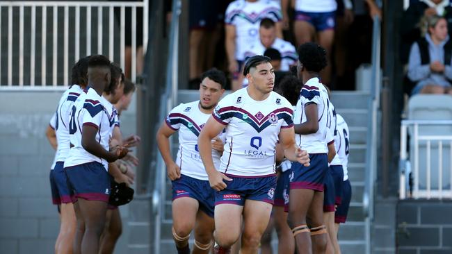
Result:
[[[286,158],[309,165],[306,151],[295,145],[292,106],[273,92],[270,58],[254,56],[243,75],[249,86],[221,100],[198,139],[200,155],[215,193],[218,252],[227,251],[243,234],[241,253],[257,253],[275,198],[275,146]],[[213,163],[211,139],[226,129],[220,167]],[[217,168],[219,171],[217,171]]]

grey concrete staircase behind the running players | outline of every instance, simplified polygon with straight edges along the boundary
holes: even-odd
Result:
[[[199,99],[197,90],[179,90],[178,102],[185,103]],[[342,253],[365,252],[365,223],[362,205],[365,177],[366,130],[369,93],[367,92],[332,92],[332,103],[347,121],[350,128],[350,158],[348,176],[352,185],[352,201],[348,221],[339,230],[339,244]],[[173,139],[173,153],[177,151],[177,136]],[[161,226],[161,253],[175,253],[171,234],[171,184],[166,185],[165,215]],[[276,250],[277,237],[273,236]],[[276,251],[275,251],[276,253]]]

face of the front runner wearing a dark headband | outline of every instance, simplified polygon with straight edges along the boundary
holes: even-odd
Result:
[[[275,71],[271,63],[263,62],[251,68],[248,82],[262,94],[268,94],[273,91],[273,87],[275,86]]]

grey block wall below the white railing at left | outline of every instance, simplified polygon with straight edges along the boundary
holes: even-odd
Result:
[[[49,169],[54,150],[45,129],[60,92],[0,90],[0,252],[53,253],[59,219],[51,203]],[[122,116],[124,135],[134,133],[136,107]],[[120,208],[123,235],[115,253],[126,253],[129,206]]]

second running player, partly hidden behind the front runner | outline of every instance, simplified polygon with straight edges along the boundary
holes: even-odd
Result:
[[[209,253],[212,244],[215,191],[202,165],[197,137],[225,92],[226,77],[210,69],[202,74],[200,100],[181,103],[172,109],[157,132],[157,144],[172,180],[172,235],[179,254],[190,253],[188,239],[195,230],[193,253]],[[179,130],[179,151],[172,160],[169,137]],[[213,163],[220,164],[223,142],[217,135],[209,139]]]

